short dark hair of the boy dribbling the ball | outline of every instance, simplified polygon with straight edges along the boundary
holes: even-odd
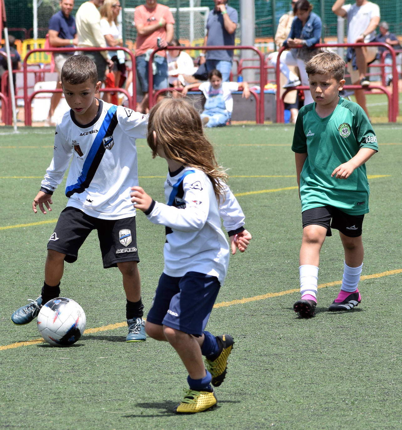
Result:
[[[87,55],[72,55],[62,68],[62,83],[78,85],[90,80],[95,86],[98,72],[95,63]]]

